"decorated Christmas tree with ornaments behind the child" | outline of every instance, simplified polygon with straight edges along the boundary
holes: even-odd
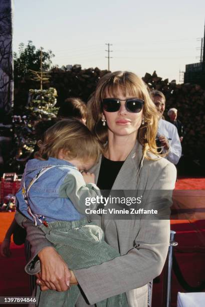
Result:
[[[30,89],[28,104],[24,116],[13,117],[13,150],[8,161],[8,170],[21,174],[26,162],[33,158],[36,142],[46,128],[55,123],[58,109],[57,91],[55,88],[47,90]],[[41,135],[36,126],[41,124]]]

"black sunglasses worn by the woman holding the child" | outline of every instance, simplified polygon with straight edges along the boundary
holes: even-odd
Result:
[[[128,112],[139,113],[144,105],[144,100],[138,98],[129,99],[116,99],[116,98],[105,98],[102,100],[102,105],[107,112],[117,112],[120,109],[121,102],[125,101],[125,108]]]

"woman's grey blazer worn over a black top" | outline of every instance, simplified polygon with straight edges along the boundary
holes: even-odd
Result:
[[[142,146],[137,142],[124,162],[113,184],[114,190],[172,190],[176,180],[176,169],[164,158],[144,159]],[[90,171],[98,180],[101,160]],[[109,176],[109,174],[108,174]],[[44,247],[50,246],[41,230],[18,214],[19,224],[27,228],[27,239],[32,244],[32,259]],[[147,284],[161,273],[170,235],[169,220],[111,220],[103,215],[95,222],[105,232],[105,240],[116,248],[121,257],[101,265],[75,270],[76,278],[90,304],[107,297],[126,292],[131,307],[147,307]],[[30,261],[30,263],[31,263]],[[40,270],[26,266],[28,273]],[[87,306],[80,297],[77,306]]]

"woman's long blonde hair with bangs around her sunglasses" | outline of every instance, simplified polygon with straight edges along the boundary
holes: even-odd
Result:
[[[144,100],[143,117],[144,124],[138,129],[137,139],[143,146],[143,154],[146,159],[148,151],[158,155],[156,147],[156,133],[158,127],[158,112],[150,97],[149,91],[137,75],[128,71],[116,71],[104,75],[98,82],[96,91],[88,101],[87,126],[95,133],[102,144],[108,140],[108,127],[102,125],[102,99],[107,94],[117,97],[119,90],[126,97],[131,95]]]

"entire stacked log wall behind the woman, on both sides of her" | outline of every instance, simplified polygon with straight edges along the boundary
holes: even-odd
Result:
[[[53,68],[50,71],[50,83],[46,87],[54,87],[58,92],[58,106],[68,97],[80,97],[87,102],[89,96],[94,92],[96,84],[107,70],[99,68],[82,69],[81,65],[68,65],[62,68]],[[178,110],[178,119],[183,123],[186,135],[183,140],[183,153],[193,157],[202,157],[205,149],[205,90],[195,84],[176,84],[168,79],[162,80],[156,72],[151,75],[146,73],[142,78],[150,89],[157,89],[166,97],[166,110],[175,107]],[[24,98],[28,97],[28,89],[32,88],[31,80],[25,79],[21,90],[16,91],[16,106],[24,110]],[[17,99],[17,92],[21,93],[21,99]],[[20,101],[18,101],[20,100]],[[197,158],[196,158],[197,159]]]

